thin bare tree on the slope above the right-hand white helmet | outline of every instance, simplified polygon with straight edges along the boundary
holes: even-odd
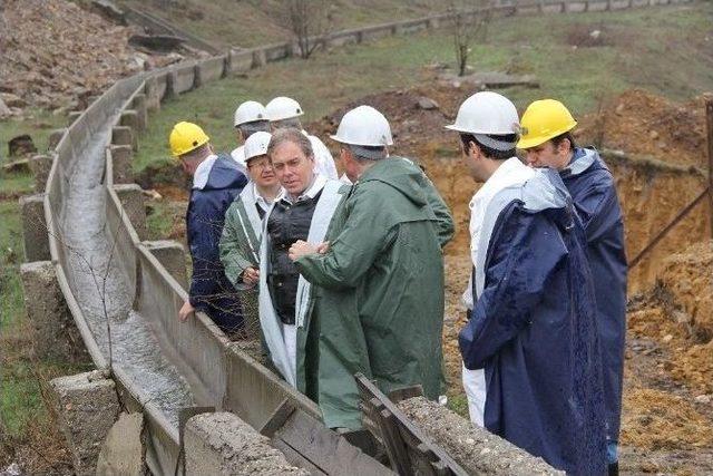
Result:
[[[452,38],[458,76],[466,75],[473,42],[486,40],[491,11],[489,0],[450,0],[448,12],[453,19]]]

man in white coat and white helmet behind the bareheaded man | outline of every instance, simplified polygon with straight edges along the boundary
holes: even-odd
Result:
[[[267,109],[272,130],[293,127],[301,130],[310,139],[314,152],[314,172],[324,175],[326,178],[335,179],[338,177],[334,158],[332,158],[330,150],[319,137],[307,134],[302,127],[300,116],[304,114],[304,110],[300,103],[292,98],[280,96],[267,103],[265,108]]]

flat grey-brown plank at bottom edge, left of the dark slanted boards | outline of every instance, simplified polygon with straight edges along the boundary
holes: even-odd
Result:
[[[305,462],[330,475],[344,474],[344,468],[359,475],[392,475],[393,473],[352,446],[346,438],[325,428],[316,418],[297,409],[284,421],[272,438],[273,443],[290,446]]]

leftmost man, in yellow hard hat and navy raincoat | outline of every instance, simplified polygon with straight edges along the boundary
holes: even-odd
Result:
[[[235,289],[225,276],[218,243],[225,212],[247,184],[229,155],[216,155],[208,136],[192,123],[178,123],[168,138],[173,156],[193,177],[186,212],[186,236],[193,261],[188,300],[178,312],[182,321],[199,310],[226,333],[243,326]]]

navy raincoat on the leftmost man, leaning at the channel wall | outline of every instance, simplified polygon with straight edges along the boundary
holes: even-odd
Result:
[[[243,311],[233,284],[225,276],[218,243],[225,212],[246,184],[247,178],[235,161],[219,155],[206,185],[191,191],[186,212],[186,234],[193,260],[189,301],[225,332],[242,327]]]

